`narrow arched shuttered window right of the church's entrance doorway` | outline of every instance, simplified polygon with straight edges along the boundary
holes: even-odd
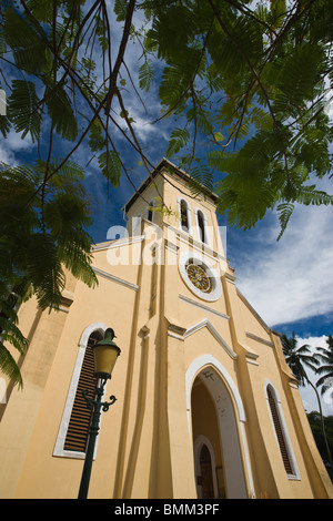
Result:
[[[294,476],[297,473],[297,471],[294,468],[295,464],[293,464],[293,458],[290,453],[289,438],[283,425],[284,421],[280,409],[280,403],[278,402],[275,390],[271,385],[268,385],[266,387],[266,398],[285,472],[287,474]]]

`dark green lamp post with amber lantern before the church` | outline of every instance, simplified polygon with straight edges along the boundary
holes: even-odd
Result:
[[[87,401],[87,406],[89,409],[92,409],[92,419],[89,429],[89,441],[85,452],[78,499],[87,499],[88,496],[94,445],[97,436],[99,433],[101,409],[103,409],[103,411],[108,411],[109,407],[112,406],[112,403],[114,403],[115,401],[115,397],[110,396],[111,401],[102,402],[107,380],[111,378],[114,364],[120,355],[120,348],[114,344],[113,338],[113,329],[108,328],[105,330],[103,340],[98,341],[93,346],[94,376],[97,378],[100,378],[100,385],[98,385],[95,390],[95,399],[88,398],[88,390],[83,391],[83,397]]]

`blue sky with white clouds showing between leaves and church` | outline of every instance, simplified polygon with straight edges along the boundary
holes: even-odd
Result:
[[[115,41],[120,32],[115,32]],[[117,45],[114,45],[117,48]],[[125,61],[133,76],[138,74],[138,48],[129,48]],[[160,113],[155,89],[145,96],[145,114],[142,104],[125,88],[123,95],[127,108],[135,120],[134,129],[153,164],[165,155],[168,143],[168,121],[161,125],[152,124],[152,115]],[[0,137],[0,162],[13,164],[29,162],[33,146],[29,139],[10,133],[4,141]],[[133,165],[131,177],[135,186],[148,173],[138,165],[129,149],[122,149],[127,164]],[[82,146],[73,157],[81,164],[91,159],[88,147]],[[172,159],[178,163],[176,159]],[[132,195],[133,188],[123,176],[119,188],[110,187],[107,196],[107,182],[97,171],[92,161],[87,168],[85,187],[93,198],[93,225],[90,228],[94,242],[107,239],[108,229],[124,225],[121,207]],[[332,180],[322,180],[321,188],[332,193]],[[224,216],[219,224],[225,225]],[[295,331],[300,345],[313,348],[325,347],[325,336],[333,335],[333,211],[332,207],[296,207],[289,226],[280,242],[276,242],[280,226],[274,212],[258,223],[254,229],[226,231],[226,257],[235,269],[236,284],[263,320],[279,333],[291,335]],[[313,376],[313,381],[316,377]],[[306,391],[306,392],[305,392]],[[302,390],[301,395],[307,410],[316,409],[313,391]],[[333,413],[331,403],[323,403],[325,413]]]

